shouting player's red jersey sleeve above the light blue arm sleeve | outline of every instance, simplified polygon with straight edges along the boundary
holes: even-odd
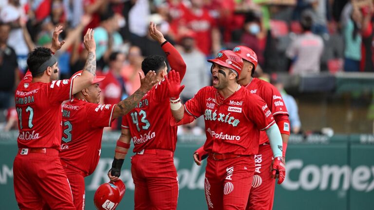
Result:
[[[266,130],[275,123],[274,117],[262,98],[255,94],[251,94],[250,98],[249,108],[247,109],[249,113],[247,113],[247,116],[256,124],[259,130]]]

